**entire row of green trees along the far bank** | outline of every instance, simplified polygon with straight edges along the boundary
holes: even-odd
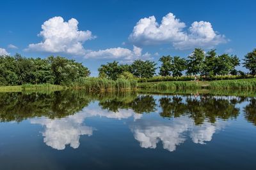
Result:
[[[216,50],[204,52],[201,48],[195,50],[184,59],[179,56],[163,56],[159,59],[160,76],[200,75],[215,76],[225,74],[245,74],[237,71],[241,61],[236,55],[223,53],[218,55]],[[256,74],[256,49],[247,53],[243,66],[250,74]],[[118,78],[151,78],[156,75],[156,62],[150,60],[134,60],[132,64],[119,64],[116,61],[102,64],[98,71],[100,78],[116,80]],[[0,85],[22,85],[26,83],[52,83],[68,85],[78,78],[87,77],[90,71],[83,64],[65,57],[26,58],[19,54],[0,56]]]

